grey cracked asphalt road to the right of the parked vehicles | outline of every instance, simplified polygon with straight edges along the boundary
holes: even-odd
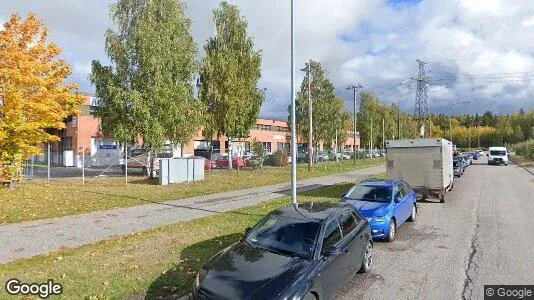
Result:
[[[368,274],[337,299],[484,299],[485,284],[534,284],[534,176],[482,158],[445,203],[419,202],[415,223],[375,242]]]

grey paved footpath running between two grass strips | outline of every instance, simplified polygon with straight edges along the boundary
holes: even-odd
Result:
[[[308,191],[385,172],[385,166],[298,182]],[[290,194],[289,183],[0,226],[0,264],[256,205]]]

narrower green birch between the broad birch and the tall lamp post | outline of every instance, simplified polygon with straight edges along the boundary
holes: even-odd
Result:
[[[231,157],[232,140],[248,136],[265,98],[264,90],[257,88],[261,53],[254,50],[247,21],[236,6],[221,2],[213,20],[217,33],[204,46],[200,99],[206,107],[206,134],[226,136]]]

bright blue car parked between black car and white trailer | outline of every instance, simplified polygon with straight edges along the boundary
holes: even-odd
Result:
[[[416,199],[415,191],[403,180],[366,180],[352,187],[341,201],[367,218],[373,239],[390,242],[399,226],[415,221]]]

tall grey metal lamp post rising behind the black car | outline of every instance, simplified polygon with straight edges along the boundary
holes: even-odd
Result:
[[[297,130],[295,118],[295,22],[293,14],[294,0],[291,0],[291,202],[297,204]]]

